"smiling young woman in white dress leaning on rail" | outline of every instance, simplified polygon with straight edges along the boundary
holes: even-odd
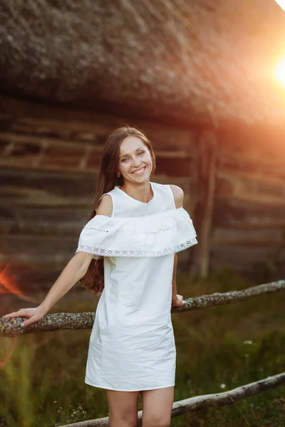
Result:
[[[41,305],[6,315],[28,317],[25,327],[78,281],[101,292],[85,381],[106,389],[110,427],[137,425],[139,394],[142,426],[170,426],[176,362],[170,310],[185,304],[176,290],[176,253],[197,240],[182,189],[150,181],[154,171],[147,137],[133,127],[115,130],[76,255]]]

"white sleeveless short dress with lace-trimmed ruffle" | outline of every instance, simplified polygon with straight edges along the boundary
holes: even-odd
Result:
[[[105,287],[90,334],[86,384],[118,391],[175,385],[171,322],[174,253],[197,243],[185,209],[169,185],[151,183],[143,203],[118,186],[111,217],[92,218],[76,252],[104,257]]]

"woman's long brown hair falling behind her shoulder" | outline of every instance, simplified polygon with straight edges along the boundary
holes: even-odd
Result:
[[[120,144],[128,136],[139,137],[150,151],[152,159],[152,172],[150,178],[155,172],[155,153],[152,144],[147,137],[136,127],[125,125],[114,130],[105,142],[103,154],[100,163],[100,172],[96,181],[95,192],[92,201],[92,211],[90,219],[96,214],[96,209],[103,194],[113,190],[115,186],[123,185],[123,178],[117,176],[117,167],[120,154]],[[103,258],[95,260],[92,258],[86,274],[79,280],[79,283],[86,289],[90,289],[95,295],[100,295],[104,288],[104,263]]]

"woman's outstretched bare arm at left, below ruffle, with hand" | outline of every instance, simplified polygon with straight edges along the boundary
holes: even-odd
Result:
[[[93,255],[85,252],[76,253],[73,258],[68,262],[66,267],[63,269],[58,279],[53,283],[51,289],[48,291],[43,302],[38,307],[33,308],[21,308],[17,312],[11,312],[9,315],[4,317],[28,317],[21,323],[22,327],[31,325],[34,322],[41,320],[46,313],[53,307],[63,295],[68,292],[88,270],[88,266],[92,260]]]

